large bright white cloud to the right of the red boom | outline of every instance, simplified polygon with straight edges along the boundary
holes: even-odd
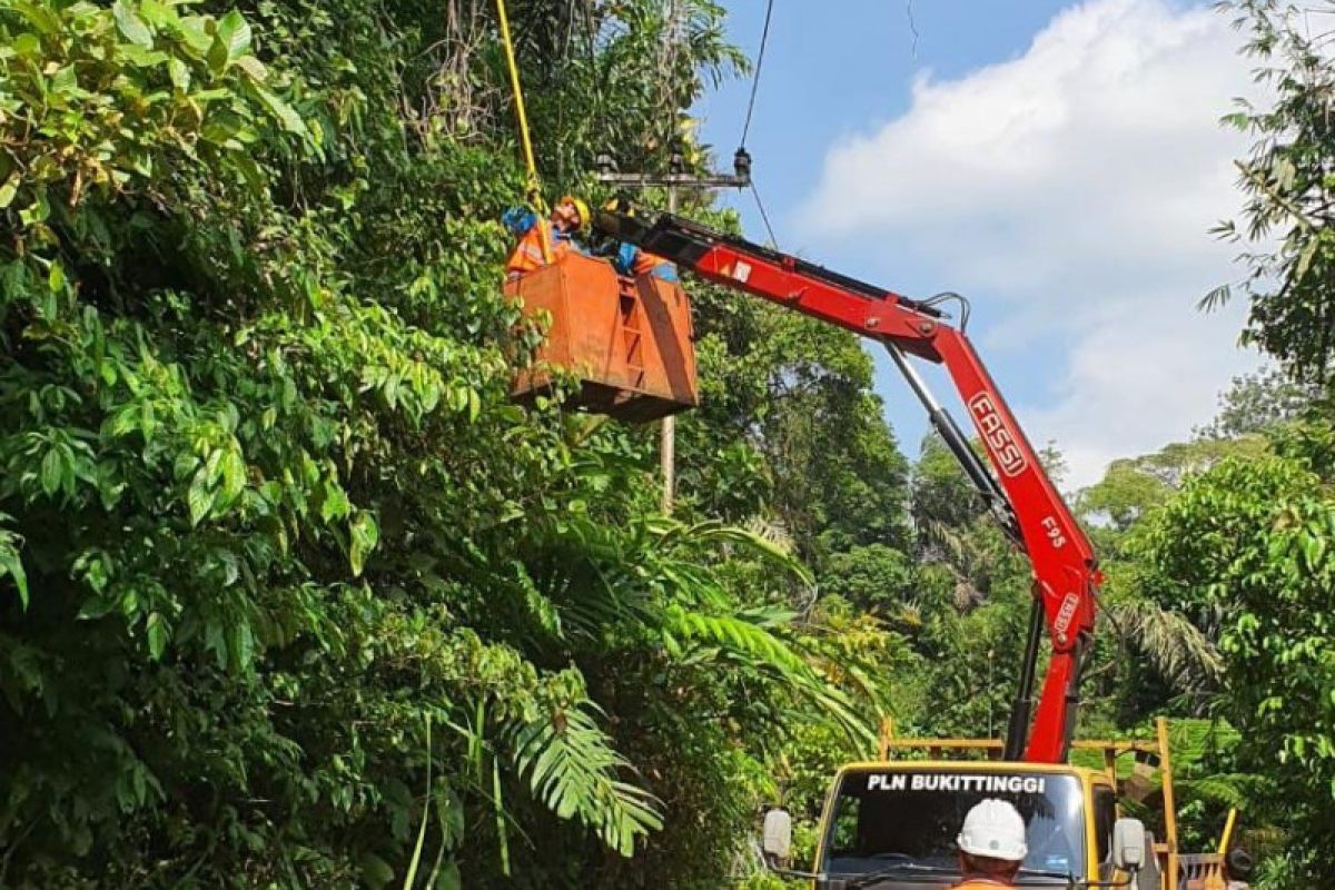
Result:
[[[985,352],[1044,348],[1043,392],[1012,398],[1033,439],[1055,439],[1069,484],[1107,460],[1208,420],[1230,375],[1238,311],[1193,303],[1231,278],[1208,235],[1238,207],[1219,127],[1254,91],[1227,16],[1164,0],[1092,0],[1028,51],[957,80],[922,75],[910,108],[828,153],[800,226],[808,242],[905,256],[943,286],[1001,307]]]

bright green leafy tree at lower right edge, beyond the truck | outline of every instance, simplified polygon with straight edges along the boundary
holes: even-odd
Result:
[[[1312,877],[1328,874],[1335,498],[1292,459],[1226,460],[1137,535],[1159,600],[1218,627],[1240,757],[1267,777],[1264,803],[1295,829]]]

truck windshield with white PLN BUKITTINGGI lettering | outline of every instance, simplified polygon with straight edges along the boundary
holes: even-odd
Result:
[[[957,867],[956,837],[984,798],[1009,801],[1028,827],[1033,871],[1085,877],[1083,795],[1073,775],[885,770],[849,773],[834,797],[821,870],[881,871],[897,862]],[[1024,883],[1044,883],[1040,877]]]

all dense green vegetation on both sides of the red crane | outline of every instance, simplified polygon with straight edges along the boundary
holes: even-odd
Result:
[[[511,7],[551,191],[705,163],[685,113],[745,68],[720,7]],[[1234,9],[1276,95],[1232,117],[1276,371],[1081,492],[1083,722],[1179,718],[1184,846],[1242,806],[1310,887],[1335,87]],[[0,0],[0,886],[761,885],[758,809],[809,843],[880,718],[1001,731],[1028,571],[939,443],[909,466],[850,336],[694,288],[670,518],[650,431],[509,403],[541,331],[499,294],[502,65],[485,0]]]

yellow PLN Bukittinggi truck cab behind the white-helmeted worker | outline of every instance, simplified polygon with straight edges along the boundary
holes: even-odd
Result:
[[[1001,761],[1003,750],[997,739],[897,739],[886,725],[878,759],[850,763],[830,783],[812,870],[782,866],[792,822],[781,810],[765,819],[765,861],[780,874],[810,879],[814,890],[953,887],[961,879],[957,837],[964,817],[980,801],[997,798],[1025,822],[1028,854],[1017,886],[1231,886],[1224,853],[1232,815],[1218,853],[1177,850],[1167,721],[1157,721],[1152,741],[1076,742],[1072,757],[1087,766]],[[1132,775],[1137,781],[1129,781]],[[1141,807],[1157,801],[1161,838],[1136,819],[1120,818],[1119,795],[1127,793]]]

